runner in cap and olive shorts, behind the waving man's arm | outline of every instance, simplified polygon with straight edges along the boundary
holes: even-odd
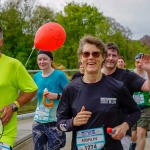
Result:
[[[144,79],[148,79],[147,72],[143,70],[141,59],[143,53],[139,53],[135,56],[134,72]],[[144,150],[146,144],[146,133],[150,124],[150,101],[149,92],[135,92],[133,98],[137,102],[141,109],[141,117],[137,124],[132,128],[132,144],[131,149],[135,150],[137,144],[137,150]]]

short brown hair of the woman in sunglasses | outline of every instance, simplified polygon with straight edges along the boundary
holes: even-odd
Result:
[[[79,48],[77,51],[78,56],[80,56],[80,54],[82,53],[83,46],[85,44],[94,44],[98,49],[101,50],[102,56],[107,55],[106,46],[99,38],[94,37],[92,35],[86,35],[80,39]]]

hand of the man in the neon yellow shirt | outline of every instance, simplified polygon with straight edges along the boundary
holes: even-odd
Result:
[[[13,108],[12,106],[8,105],[0,109],[0,112],[2,112],[2,115],[1,115],[2,123],[3,125],[6,125],[10,121],[13,115]]]

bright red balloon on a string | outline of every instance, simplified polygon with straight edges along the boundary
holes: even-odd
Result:
[[[53,51],[60,48],[66,40],[64,28],[55,22],[42,25],[36,32],[34,46],[37,49]]]

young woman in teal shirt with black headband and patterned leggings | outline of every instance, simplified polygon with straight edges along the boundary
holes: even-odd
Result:
[[[50,51],[39,50],[37,63],[41,71],[33,77],[38,86],[32,129],[34,149],[59,150],[65,146],[66,135],[56,127],[56,110],[68,79],[63,71],[55,69]]]

